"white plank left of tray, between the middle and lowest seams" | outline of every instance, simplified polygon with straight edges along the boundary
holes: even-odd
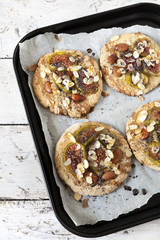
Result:
[[[29,126],[0,126],[0,198],[48,198]]]

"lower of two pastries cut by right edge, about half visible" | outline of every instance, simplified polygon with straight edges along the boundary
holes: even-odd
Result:
[[[160,101],[138,107],[128,120],[126,133],[135,157],[160,171]]]

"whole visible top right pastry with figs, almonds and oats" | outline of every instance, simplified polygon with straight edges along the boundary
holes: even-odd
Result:
[[[100,65],[107,84],[129,96],[146,94],[160,83],[160,47],[148,36],[114,36],[101,49]]]

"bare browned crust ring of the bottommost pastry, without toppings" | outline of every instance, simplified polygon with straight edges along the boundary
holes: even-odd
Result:
[[[87,184],[86,181],[78,182],[76,178],[64,166],[64,150],[66,146],[71,142],[70,138],[68,137],[68,133],[74,134],[77,130],[84,127],[85,125],[102,126],[106,130],[109,130],[117,137],[119,141],[118,148],[123,152],[123,157],[120,162],[121,173],[115,179],[104,181],[101,186],[91,186]],[[70,186],[74,192],[78,192],[82,195],[100,196],[112,192],[114,189],[120,186],[128,176],[131,168],[131,157],[126,156],[128,152],[130,153],[130,149],[126,140],[117,130],[113,129],[112,127],[99,122],[78,123],[69,127],[59,139],[55,151],[55,165],[60,178],[63,179],[64,182]]]

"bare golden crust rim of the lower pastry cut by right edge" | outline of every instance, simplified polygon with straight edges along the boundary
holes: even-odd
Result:
[[[139,138],[135,138],[134,131],[131,130],[132,125],[137,125],[137,117],[138,114],[142,110],[146,110],[147,112],[155,107],[155,102],[160,104],[160,101],[154,101],[150,102],[147,104],[144,104],[140,107],[138,107],[128,120],[127,126],[126,126],[126,134],[127,134],[127,139],[130,144],[130,147],[137,158],[142,164],[145,164],[147,167],[150,167],[152,169],[160,171],[160,165],[155,164],[155,162],[151,161],[151,158],[147,154],[147,148],[148,148],[148,143],[145,140],[140,140]]]

